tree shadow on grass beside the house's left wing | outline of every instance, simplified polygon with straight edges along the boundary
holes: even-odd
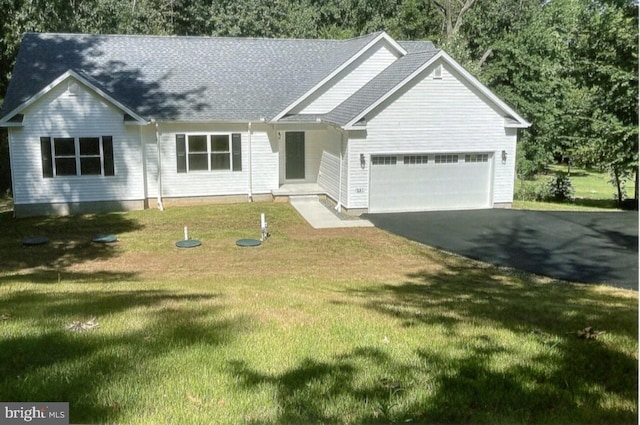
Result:
[[[0,214],[0,272],[44,267],[58,270],[95,259],[111,258],[118,253],[118,243],[97,244],[91,240],[99,234],[121,234],[142,226],[127,214],[91,214],[64,217],[13,219]],[[45,236],[49,243],[24,246],[27,236]]]

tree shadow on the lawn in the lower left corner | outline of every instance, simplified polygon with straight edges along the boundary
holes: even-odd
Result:
[[[0,400],[66,401],[71,423],[121,422],[125,411],[136,409],[126,387],[166,385],[154,383],[162,373],[158,377],[149,363],[193,345],[224,345],[246,329],[242,319],[221,318],[220,307],[191,308],[193,302],[216,299],[134,290],[9,294],[2,303],[9,316],[0,322]],[[143,309],[140,320],[131,318],[137,309]],[[124,317],[131,323],[113,322],[122,320],[118,313],[123,312],[129,312]],[[66,329],[91,317],[100,323],[98,329]],[[119,389],[110,392],[112,386]]]

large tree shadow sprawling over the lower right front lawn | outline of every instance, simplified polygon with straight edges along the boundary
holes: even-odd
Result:
[[[350,293],[424,343],[276,374],[230,362],[245,390],[273,390],[276,423],[637,423],[637,298],[473,262]],[[606,334],[580,339],[586,326]]]

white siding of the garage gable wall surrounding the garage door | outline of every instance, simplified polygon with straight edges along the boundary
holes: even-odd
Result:
[[[430,78],[439,65],[442,78]],[[367,156],[491,153],[496,160],[490,204],[512,202],[516,131],[505,129],[502,114],[448,64],[427,68],[366,118],[366,134],[350,134],[348,208],[369,205],[370,164],[360,167],[362,152]],[[503,150],[505,162],[501,160]]]

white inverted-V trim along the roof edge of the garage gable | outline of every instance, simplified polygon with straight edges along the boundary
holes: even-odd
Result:
[[[440,50],[437,54],[435,54],[431,59],[425,62],[420,68],[414,71],[411,75],[404,79],[404,81],[400,82],[393,89],[389,90],[384,96],[380,97],[377,101],[369,105],[364,111],[358,114],[355,118],[349,121],[345,126],[345,130],[357,130],[361,129],[361,125],[356,125],[362,118],[364,118],[369,112],[377,108],[380,104],[382,104],[385,100],[391,97],[394,93],[408,84],[411,80],[416,78],[422,71],[427,69],[437,60],[443,60],[447,64],[451,65],[463,78],[465,78],[474,88],[479,90],[484,96],[486,96],[491,102],[493,102],[500,110],[502,110],[508,117],[513,118],[517,123],[510,123],[510,128],[528,128],[531,126],[527,120],[522,118],[516,111],[514,111],[509,105],[504,103],[500,98],[498,98],[491,90],[489,90],[484,84],[478,81],[473,75],[469,74],[469,72],[462,67],[458,62],[456,62],[451,56],[449,56],[444,50]],[[505,125],[506,126],[506,125]]]

